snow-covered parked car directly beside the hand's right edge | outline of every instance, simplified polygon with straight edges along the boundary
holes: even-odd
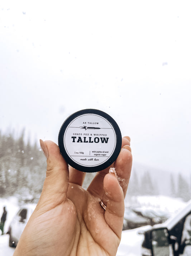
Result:
[[[143,216],[139,216],[130,208],[125,208],[123,219],[123,230],[139,228],[140,226],[149,225],[149,220]]]

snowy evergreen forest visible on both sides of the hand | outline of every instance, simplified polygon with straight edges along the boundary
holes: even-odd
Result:
[[[14,133],[0,132],[0,197],[17,196],[20,200],[38,201],[46,177],[46,158],[39,142],[25,142],[25,131],[15,138]],[[160,179],[153,178],[154,171],[132,170],[128,196],[159,195],[191,198],[190,182],[180,173],[169,174],[167,187]],[[83,184],[87,188],[95,173],[86,174]],[[167,178],[166,178],[167,179]]]

